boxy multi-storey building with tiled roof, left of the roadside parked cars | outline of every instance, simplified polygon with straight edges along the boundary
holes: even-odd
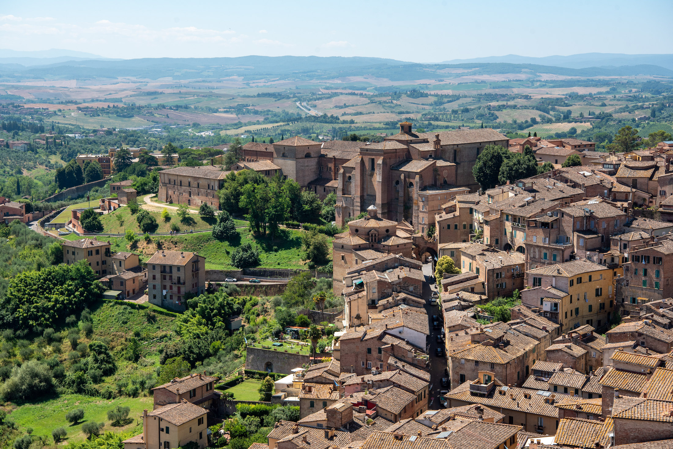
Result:
[[[147,279],[149,302],[184,311],[185,293],[205,292],[205,257],[188,251],[157,251],[147,261]]]

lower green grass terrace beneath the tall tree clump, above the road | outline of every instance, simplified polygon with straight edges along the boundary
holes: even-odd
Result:
[[[235,270],[231,263],[231,253],[244,242],[250,242],[260,249],[260,264],[263,268],[306,268],[302,260],[302,232],[293,229],[282,229],[276,235],[275,241],[271,237],[255,237],[248,229],[238,229],[238,237],[232,241],[219,241],[213,238],[212,233],[198,233],[187,235],[157,235],[150,243],[140,239],[137,247],[129,248],[129,243],[123,237],[100,236],[100,241],[110,241],[112,251],[133,251],[145,261],[157,251],[156,241],[162,249],[167,251],[194,251],[206,258],[206,270]],[[79,238],[79,237],[78,237]],[[328,237],[331,241],[332,237]],[[332,245],[329,245],[330,251]]]

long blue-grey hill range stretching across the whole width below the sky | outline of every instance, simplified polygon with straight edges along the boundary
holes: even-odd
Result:
[[[447,73],[443,69],[469,69],[466,73]],[[620,67],[558,67],[530,63],[418,64],[406,61],[340,56],[241,56],[238,58],[140,58],[81,59],[44,65],[1,64],[0,79],[221,79],[232,76],[245,81],[280,77],[289,80],[335,79],[369,75],[390,81],[414,81],[460,77],[462,75],[539,73],[567,77],[658,75],[673,77],[673,70],[659,65],[639,64]]]

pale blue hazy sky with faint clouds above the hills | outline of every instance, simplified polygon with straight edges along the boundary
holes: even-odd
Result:
[[[0,1],[0,48],[109,58],[671,53],[673,1]]]

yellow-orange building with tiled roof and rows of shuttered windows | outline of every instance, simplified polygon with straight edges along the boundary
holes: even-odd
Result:
[[[621,267],[587,259],[535,268],[526,273],[529,288],[522,291],[522,303],[541,309],[544,317],[561,325],[561,332],[587,324],[600,329],[610,322],[620,276]]]

